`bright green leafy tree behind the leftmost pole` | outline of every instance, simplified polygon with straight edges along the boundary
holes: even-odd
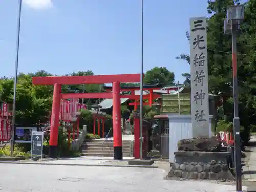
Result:
[[[1,100],[13,102],[14,79],[0,81]],[[48,97],[36,95],[30,75],[19,74],[16,94],[16,124],[32,125],[45,123],[52,104],[52,93]]]

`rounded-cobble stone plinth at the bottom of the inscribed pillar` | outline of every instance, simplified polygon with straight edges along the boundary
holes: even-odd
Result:
[[[234,180],[227,152],[177,151],[174,155],[175,162],[170,163],[167,178]]]

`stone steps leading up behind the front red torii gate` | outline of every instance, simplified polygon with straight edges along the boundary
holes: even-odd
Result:
[[[132,141],[123,140],[123,157],[131,157]],[[84,156],[114,157],[113,140],[95,139],[86,141],[81,147]]]

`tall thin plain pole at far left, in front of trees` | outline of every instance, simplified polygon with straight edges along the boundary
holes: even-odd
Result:
[[[11,132],[11,153],[14,151],[14,134],[15,134],[15,118],[16,118],[16,92],[17,92],[17,77],[18,77],[18,57],[19,57],[19,36],[20,36],[20,19],[22,17],[22,0],[18,2],[18,23],[17,23],[17,45],[16,45],[16,61],[14,75],[14,91],[13,91],[13,109],[12,109],[12,132]]]

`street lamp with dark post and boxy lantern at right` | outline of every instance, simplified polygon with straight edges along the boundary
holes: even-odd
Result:
[[[234,100],[234,166],[236,170],[236,191],[242,191],[242,170],[241,170],[241,143],[240,143],[240,121],[238,113],[238,78],[237,78],[237,42],[236,31],[244,19],[244,6],[228,6],[227,17],[224,20],[224,30],[232,34],[232,63],[233,63],[233,100]]]

